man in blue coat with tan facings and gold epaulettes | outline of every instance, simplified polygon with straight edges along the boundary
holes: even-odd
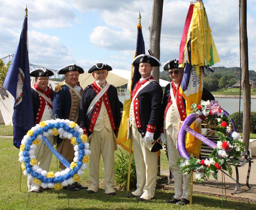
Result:
[[[83,89],[79,86],[79,74],[83,74],[83,68],[76,64],[65,66],[58,70],[59,75],[65,76],[65,81],[55,88],[56,95],[53,100],[53,113],[60,119],[69,119],[78,122],[79,105]],[[74,146],[69,139],[57,138],[57,151],[71,163],[75,157]],[[65,170],[65,166],[60,162],[61,170]],[[77,191],[79,189],[87,189],[80,183],[75,182],[72,185],[64,186],[64,189]]]

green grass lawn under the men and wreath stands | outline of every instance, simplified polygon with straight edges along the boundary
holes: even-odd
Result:
[[[189,210],[216,210],[221,209],[221,199],[207,195],[193,195],[192,206],[177,206],[175,204],[167,204],[165,200],[173,196],[173,191],[156,190],[155,199],[147,202],[136,202],[134,199],[128,199],[124,196],[125,191],[117,190],[116,196],[108,196],[104,193],[104,165],[100,163],[100,187],[99,192],[88,194],[85,190],[77,192],[68,192],[61,189],[45,191],[41,194],[27,192],[27,178],[23,176],[22,192],[19,192],[19,150],[12,145],[12,139],[0,138],[0,209],[26,209],[28,201],[28,209],[189,209]],[[117,150],[116,152],[118,152]],[[163,158],[163,159],[162,159]],[[165,162],[164,156],[161,160]],[[163,166],[166,167],[166,166]],[[53,157],[51,170],[56,171],[57,161]],[[81,178],[81,183],[87,185],[88,170],[85,170]],[[29,197],[29,199],[28,199]],[[68,200],[69,197],[69,200]],[[228,200],[228,209],[254,209],[255,204],[248,204],[238,201]]]

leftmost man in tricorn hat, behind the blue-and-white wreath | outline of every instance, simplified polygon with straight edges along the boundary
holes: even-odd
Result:
[[[30,72],[31,77],[35,77],[36,82],[31,88],[33,112],[35,124],[44,120],[50,120],[53,117],[53,97],[54,91],[48,87],[49,77],[53,76],[53,72],[47,68],[38,68]],[[51,144],[54,138],[49,138]],[[49,171],[52,160],[52,152],[42,139],[39,139],[35,156],[40,168]],[[43,192],[42,188],[36,185],[32,176],[28,176],[28,190],[34,193]]]

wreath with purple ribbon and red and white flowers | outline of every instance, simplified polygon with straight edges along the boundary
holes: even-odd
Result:
[[[193,171],[199,182],[207,180],[210,175],[213,175],[217,179],[218,170],[221,169],[227,170],[231,176],[232,168],[228,164],[228,161],[236,166],[244,146],[240,134],[236,132],[234,121],[221,108],[220,104],[215,101],[202,102],[201,105],[192,104],[191,109],[192,112],[182,123],[177,138],[178,150],[181,155],[177,160],[177,165],[179,165],[181,173],[188,174]],[[201,115],[207,117],[205,119],[206,122],[217,120],[218,130],[216,131],[216,135],[219,137],[217,144],[189,127]],[[185,148],[186,132],[214,149],[209,156],[209,160],[200,160],[193,157],[193,155],[189,156]]]

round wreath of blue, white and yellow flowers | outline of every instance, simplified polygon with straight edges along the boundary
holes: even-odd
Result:
[[[39,167],[35,156],[37,145],[43,139],[43,136],[57,136],[71,140],[74,145],[75,157],[70,164],[70,168],[63,171],[45,171]],[[77,123],[67,119],[51,119],[41,121],[27,132],[21,141],[19,161],[25,176],[32,176],[33,181],[42,188],[61,189],[74,182],[78,182],[84,169],[90,161],[91,151],[87,143],[87,136],[84,130]]]

